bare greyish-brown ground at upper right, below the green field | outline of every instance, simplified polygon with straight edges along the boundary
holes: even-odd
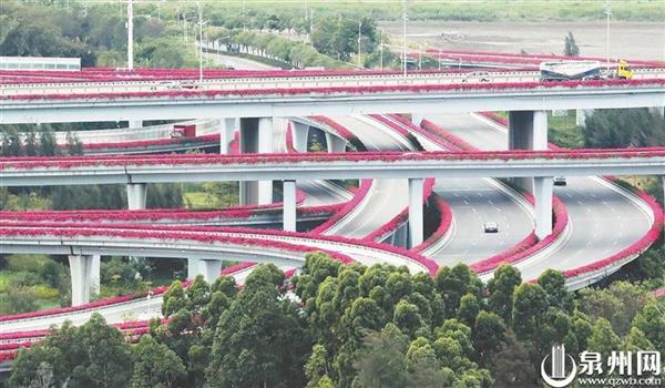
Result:
[[[401,22],[380,22],[393,44],[402,39]],[[564,37],[573,32],[581,55],[605,57],[605,22],[409,22],[409,42],[429,48],[562,54]],[[612,58],[665,60],[665,21],[612,22]]]

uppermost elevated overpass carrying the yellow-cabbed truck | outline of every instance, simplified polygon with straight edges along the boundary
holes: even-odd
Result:
[[[0,124],[665,105],[665,79],[655,78],[561,83],[441,84],[400,79],[393,85],[352,79],[346,82],[348,85],[274,82],[266,84],[267,88],[239,90],[122,91],[124,88],[120,88],[120,91],[81,94],[3,95]],[[90,109],[95,114],[89,114]]]

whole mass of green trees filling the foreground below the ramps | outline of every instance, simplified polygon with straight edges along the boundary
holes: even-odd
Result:
[[[625,282],[575,296],[555,270],[522,284],[504,265],[483,285],[464,265],[432,278],[321,253],[293,279],[301,303],[284,280],[260,265],[243,288],[229,277],[175,282],[162,305],[168,323],[151,321],[139,344],[99,316],[64,325],[20,351],[9,386],[47,375],[73,387],[533,387],[553,344],[665,351],[665,305]]]

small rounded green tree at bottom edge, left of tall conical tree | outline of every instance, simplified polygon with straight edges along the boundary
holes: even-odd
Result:
[[[151,336],[141,337],[132,353],[132,388],[173,387],[175,380],[185,375],[183,360],[166,345],[157,344]]]

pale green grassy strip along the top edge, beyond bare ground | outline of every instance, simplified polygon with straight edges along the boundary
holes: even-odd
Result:
[[[400,1],[377,2],[372,0],[308,0],[284,1],[275,7],[274,1],[242,0],[204,1],[205,9],[212,9],[211,19],[224,21],[226,27],[247,29],[270,29],[276,32],[295,30],[301,33],[308,30],[306,13],[316,19],[336,19],[345,17],[358,19],[358,16],[374,20],[401,20]],[[182,4],[180,10],[183,10]],[[305,8],[307,7],[307,9]],[[152,9],[154,10],[154,6]],[[171,11],[174,6],[171,6]],[[658,1],[612,1],[612,18],[630,21],[661,21],[665,18],[665,8]],[[166,7],[162,7],[164,12]],[[195,12],[195,6],[188,12]],[[459,20],[459,21],[572,21],[605,20],[605,1],[544,1],[544,0],[410,0],[409,20]],[[243,10],[245,10],[243,12]],[[306,12],[309,10],[310,12]],[[154,11],[153,11],[154,13]]]

